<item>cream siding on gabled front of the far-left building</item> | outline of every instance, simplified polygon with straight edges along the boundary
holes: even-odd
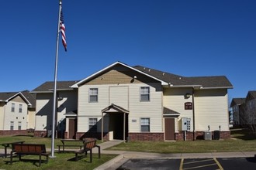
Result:
[[[15,104],[15,111],[12,112],[12,104]],[[22,113],[19,113],[19,104],[22,104]],[[10,122],[14,122],[13,130],[18,130],[18,122],[22,122],[21,130],[26,130],[28,106],[21,97],[17,96],[5,105],[4,130],[10,130]]]

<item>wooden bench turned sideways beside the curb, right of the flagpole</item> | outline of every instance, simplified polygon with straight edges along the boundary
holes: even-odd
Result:
[[[96,139],[85,141],[84,149],[81,149],[79,151],[74,151],[75,154],[75,161],[78,161],[78,154],[85,153],[85,157],[87,156],[87,151],[90,151],[90,162],[92,162],[92,149],[97,147],[98,148],[98,155],[100,158],[100,146],[96,145]]]

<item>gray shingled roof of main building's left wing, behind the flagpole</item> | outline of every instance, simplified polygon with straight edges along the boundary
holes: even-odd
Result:
[[[74,81],[57,81],[57,90],[72,90],[71,86],[74,83],[78,83],[78,80]],[[54,90],[54,81],[47,81],[32,90],[33,93],[49,92]]]

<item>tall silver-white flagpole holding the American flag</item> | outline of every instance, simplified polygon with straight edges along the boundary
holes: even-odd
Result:
[[[53,125],[52,125],[52,131],[51,131],[51,155],[50,158],[55,158],[54,156],[54,134],[55,134],[55,114],[56,114],[56,99],[57,99],[57,58],[58,58],[58,51],[59,51],[59,37],[60,37],[60,20],[61,20],[61,8],[62,8],[62,2],[60,0],[59,3],[59,18],[57,22],[57,43],[56,43],[56,57],[55,57],[55,71],[54,71],[54,98],[53,98]]]

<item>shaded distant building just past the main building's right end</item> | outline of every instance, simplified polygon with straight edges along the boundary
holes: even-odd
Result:
[[[234,127],[240,126],[240,106],[245,103],[245,98],[234,98],[231,101],[230,108],[233,115]]]

